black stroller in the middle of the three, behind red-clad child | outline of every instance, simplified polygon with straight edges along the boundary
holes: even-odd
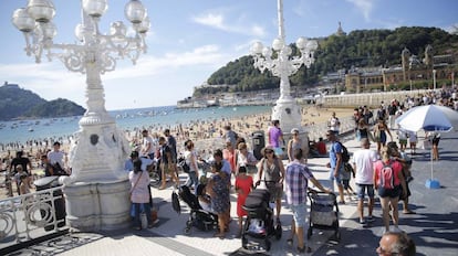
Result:
[[[244,222],[241,242],[242,247],[248,248],[248,239],[254,238],[264,242],[264,248],[270,250],[270,237],[281,238],[282,228],[278,224],[273,225],[273,210],[269,205],[270,193],[268,190],[254,189],[247,196],[247,201],[242,206],[247,211],[247,221]]]

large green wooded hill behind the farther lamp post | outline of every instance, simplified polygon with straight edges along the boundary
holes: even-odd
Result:
[[[388,67],[399,64],[400,52],[404,47],[417,55],[419,60],[424,57],[425,47],[428,44],[433,46],[435,55],[458,54],[458,34],[450,34],[438,28],[402,26],[395,30],[356,30],[346,35],[333,34],[318,39],[318,41],[315,63],[310,68],[302,66],[296,74],[292,75],[291,86],[313,87],[321,76],[342,68]],[[290,46],[293,55],[299,55],[298,49],[293,44]],[[246,55],[216,71],[207,83],[222,86],[197,87],[192,96],[277,88],[279,78],[270,72],[261,74],[253,67],[252,56]]]

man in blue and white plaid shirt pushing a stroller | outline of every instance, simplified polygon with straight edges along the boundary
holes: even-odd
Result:
[[[313,177],[309,168],[302,163],[303,152],[302,149],[294,149],[294,160],[287,166],[285,171],[285,194],[287,202],[293,212],[293,220],[291,223],[291,236],[288,239],[288,244],[292,245],[293,237],[298,237],[298,250],[299,253],[311,253],[312,249],[304,245],[304,226],[306,220],[306,191],[309,186],[308,180],[310,180],[321,191],[329,193],[327,189]]]

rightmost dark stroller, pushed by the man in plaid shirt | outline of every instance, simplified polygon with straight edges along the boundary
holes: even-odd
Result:
[[[306,238],[310,239],[313,234],[313,228],[318,228],[334,230],[334,239],[336,242],[341,241],[341,232],[339,231],[339,205],[335,194],[309,190],[308,196],[311,206]]]

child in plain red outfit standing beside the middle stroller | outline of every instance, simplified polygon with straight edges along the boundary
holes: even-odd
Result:
[[[248,194],[253,188],[253,178],[247,174],[247,168],[240,167],[236,178],[236,192],[237,192],[237,216],[239,217],[239,232],[237,238],[241,237],[243,216],[247,216],[247,212],[242,209]]]

